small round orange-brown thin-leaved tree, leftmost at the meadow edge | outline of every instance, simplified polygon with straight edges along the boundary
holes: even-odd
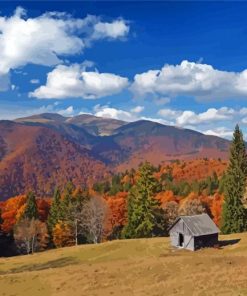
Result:
[[[45,223],[35,219],[22,219],[14,230],[18,248],[26,254],[42,250],[48,243],[48,232]]]

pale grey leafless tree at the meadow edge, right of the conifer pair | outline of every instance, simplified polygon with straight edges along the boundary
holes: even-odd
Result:
[[[83,207],[77,220],[77,231],[86,232],[94,244],[100,243],[104,234],[107,206],[100,197],[92,197]]]

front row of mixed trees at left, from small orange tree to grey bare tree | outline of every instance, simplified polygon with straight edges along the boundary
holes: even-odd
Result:
[[[20,253],[32,254],[52,247],[99,243],[103,236],[107,206],[99,196],[75,188],[68,182],[61,193],[55,189],[46,221],[39,219],[33,192],[26,197],[24,211],[11,233]]]

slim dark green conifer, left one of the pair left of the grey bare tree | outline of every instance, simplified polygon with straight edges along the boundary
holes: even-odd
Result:
[[[47,219],[49,232],[51,233],[54,226],[57,224],[61,217],[61,194],[58,188],[55,188],[52,204]]]

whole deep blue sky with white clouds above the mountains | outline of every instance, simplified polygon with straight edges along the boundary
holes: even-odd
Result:
[[[3,1],[0,119],[147,119],[247,139],[247,2]]]

